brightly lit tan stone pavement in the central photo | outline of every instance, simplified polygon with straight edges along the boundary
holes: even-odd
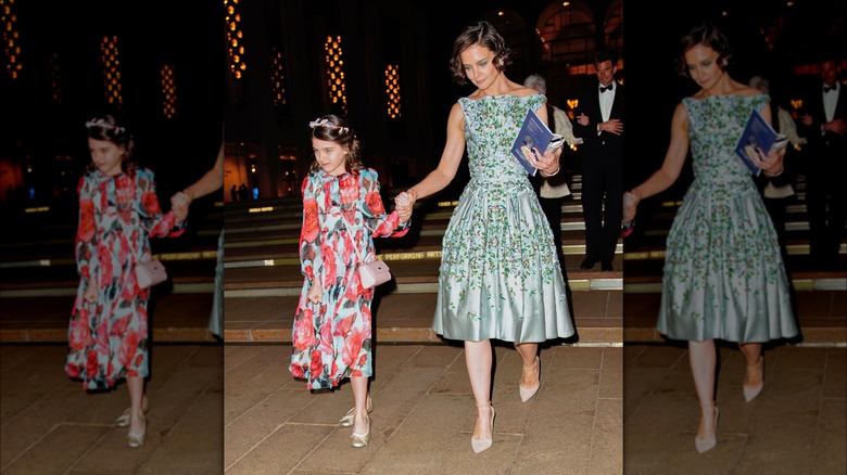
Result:
[[[541,350],[542,386],[521,402],[521,361],[494,346],[494,444],[473,453],[476,407],[462,346],[379,345],[371,440],[338,420],[349,383],[309,391],[288,373],[290,345],[225,347],[226,474],[620,474],[620,347]]]

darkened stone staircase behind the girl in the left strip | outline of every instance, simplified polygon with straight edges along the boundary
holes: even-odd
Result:
[[[51,203],[3,211],[12,226],[0,239],[0,342],[66,342],[79,282],[74,257],[78,210]],[[151,240],[169,278],[152,291],[153,341],[216,342],[207,324],[223,215],[223,202],[198,200],[184,235]]]

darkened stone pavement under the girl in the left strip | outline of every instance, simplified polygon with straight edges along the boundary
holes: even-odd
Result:
[[[154,345],[147,442],[127,447],[114,420],[126,385],[86,391],[64,372],[67,344],[0,345],[0,473],[222,473],[223,345]]]

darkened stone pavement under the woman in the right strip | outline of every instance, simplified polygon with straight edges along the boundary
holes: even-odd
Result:
[[[699,454],[699,403],[684,345],[623,347],[627,474],[847,471],[847,349],[767,345],[764,389],[742,395],[744,356],[719,346],[718,445]]]

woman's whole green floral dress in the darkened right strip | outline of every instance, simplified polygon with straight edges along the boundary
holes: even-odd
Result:
[[[764,94],[685,98],[694,181],[667,241],[657,329],[674,339],[797,335],[776,231],[735,145]]]

